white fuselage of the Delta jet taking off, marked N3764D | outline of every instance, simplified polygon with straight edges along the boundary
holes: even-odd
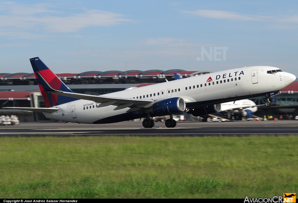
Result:
[[[268,70],[278,70],[278,68],[252,66],[230,69],[127,89],[105,94],[105,96],[156,99],[157,101],[170,97],[181,97],[185,100],[187,108],[197,108],[265,95],[285,88],[296,79],[294,75],[286,72],[268,74]],[[207,82],[207,80],[209,81]],[[74,123],[94,123],[98,120],[103,120],[102,123],[114,123],[145,117],[144,114],[127,113],[130,108],[114,110],[116,106],[113,105],[96,108],[96,104],[98,103],[89,100],[75,100],[54,106],[53,108],[57,107],[59,110],[55,113],[44,113],[44,115],[47,118]]]

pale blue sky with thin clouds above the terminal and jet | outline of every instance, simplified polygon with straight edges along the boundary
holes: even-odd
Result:
[[[0,1],[0,72],[220,71],[275,66],[298,76],[298,1]],[[201,58],[202,47],[219,50]],[[214,52],[213,56],[214,56]]]

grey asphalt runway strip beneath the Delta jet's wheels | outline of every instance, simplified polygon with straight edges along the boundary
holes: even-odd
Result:
[[[142,122],[125,121],[112,124],[77,123],[21,123],[0,126],[0,137],[40,136],[250,136],[298,135],[297,120],[235,121],[222,123],[177,122],[175,128],[155,123],[153,128],[143,128]]]

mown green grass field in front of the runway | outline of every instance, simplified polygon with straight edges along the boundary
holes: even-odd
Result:
[[[298,137],[0,138],[0,198],[298,192]]]

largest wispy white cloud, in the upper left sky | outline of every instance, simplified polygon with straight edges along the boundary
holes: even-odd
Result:
[[[125,15],[101,10],[84,10],[82,13],[63,15],[55,11],[54,5],[35,4],[21,5],[14,2],[0,2],[0,29],[21,28],[23,30],[40,30],[48,32],[77,32],[90,26],[114,26],[131,23],[133,20]]]

